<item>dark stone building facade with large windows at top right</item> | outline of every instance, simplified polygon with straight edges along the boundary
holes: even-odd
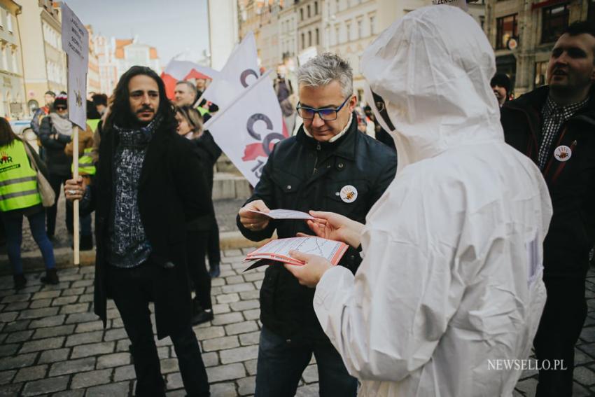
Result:
[[[595,25],[595,0],[486,0],[485,32],[515,96],[546,83],[554,43],[577,20]]]

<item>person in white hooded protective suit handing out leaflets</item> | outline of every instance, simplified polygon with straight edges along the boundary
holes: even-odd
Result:
[[[318,256],[285,265],[360,396],[511,396],[545,304],[552,216],[538,167],[504,142],[485,34],[452,6],[412,11],[362,57],[368,103],[398,151],[366,225],[312,211],[360,246],[355,276]],[[372,99],[374,97],[374,99]]]

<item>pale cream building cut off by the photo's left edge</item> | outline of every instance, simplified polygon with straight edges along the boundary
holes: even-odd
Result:
[[[29,114],[17,20],[21,11],[13,0],[0,0],[0,116],[6,118]]]

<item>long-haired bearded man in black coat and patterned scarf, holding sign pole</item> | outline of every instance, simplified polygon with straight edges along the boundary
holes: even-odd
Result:
[[[176,134],[174,109],[153,70],[130,68],[114,96],[96,179],[64,188],[66,198],[82,200],[83,214],[95,209],[95,313],[105,326],[113,298],[132,342],[136,395],[165,396],[148,309],[155,302],[158,338],[172,338],[188,396],[209,396],[186,266],[187,225],[209,230],[214,216],[200,158]]]

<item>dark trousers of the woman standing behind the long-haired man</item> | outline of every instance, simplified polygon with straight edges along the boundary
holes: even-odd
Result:
[[[188,272],[194,284],[196,300],[202,309],[211,309],[211,277],[207,272],[207,263],[204,260],[204,251],[207,247],[209,233],[187,232],[186,252],[188,253]]]

